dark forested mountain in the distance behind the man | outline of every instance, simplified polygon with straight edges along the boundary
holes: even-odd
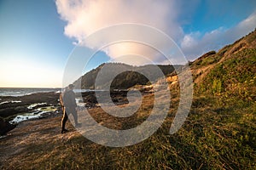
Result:
[[[131,88],[135,85],[146,85],[148,82],[148,78],[144,77],[139,72],[145,72],[149,77],[155,77],[155,80],[159,79],[161,75],[158,75],[157,72],[154,72],[155,65],[143,65],[143,66],[132,66],[125,65],[121,63],[104,63],[99,65],[96,69],[93,69],[84,74],[84,76],[80,77],[73,84],[76,88],[79,88],[79,81],[81,81],[82,89],[94,89],[96,77],[101,71],[102,67],[109,68],[108,71],[102,72],[102,77],[108,77],[109,75],[113,75],[116,71],[121,72],[117,77],[115,77],[112,81],[108,79],[104,80],[102,84],[100,84],[101,88],[107,87],[110,85],[111,88],[116,89],[126,89]],[[157,65],[162,73],[166,76],[171,74],[174,71],[174,67],[177,69],[181,65]]]

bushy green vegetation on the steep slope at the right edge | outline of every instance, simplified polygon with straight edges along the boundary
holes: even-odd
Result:
[[[255,99],[256,49],[244,49],[232,58],[216,65],[196,88],[200,94],[239,96]]]

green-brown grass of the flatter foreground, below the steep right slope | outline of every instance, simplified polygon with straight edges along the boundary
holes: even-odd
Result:
[[[256,168],[255,102],[195,94],[187,121],[177,133],[170,135],[177,110],[177,102],[173,104],[162,127],[139,144],[111,148],[90,142],[81,135],[61,143],[30,144],[20,156],[23,160],[20,168]]]

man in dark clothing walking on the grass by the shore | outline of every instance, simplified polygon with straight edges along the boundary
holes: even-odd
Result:
[[[75,93],[73,92],[73,84],[69,84],[68,88],[61,94],[60,96],[60,102],[61,106],[63,105],[63,117],[61,120],[61,133],[66,133],[67,129],[65,128],[66,122],[67,122],[67,115],[72,114],[73,120],[75,122],[75,127],[79,126],[78,122],[78,113],[76,111],[77,103],[75,100]]]

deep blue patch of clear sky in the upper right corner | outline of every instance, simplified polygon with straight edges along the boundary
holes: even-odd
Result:
[[[198,5],[191,9],[193,11],[191,11],[190,17],[183,16],[183,19],[188,20],[188,23],[183,25],[186,33],[201,31],[204,34],[222,26],[228,29],[236,26],[241,20],[245,20],[256,9],[255,1],[215,0],[197,2]],[[183,19],[181,18],[181,20]]]

